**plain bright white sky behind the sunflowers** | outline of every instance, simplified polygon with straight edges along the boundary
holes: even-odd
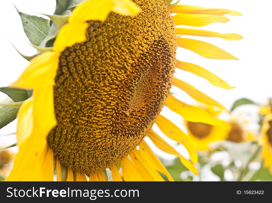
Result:
[[[8,86],[19,77],[29,62],[23,59],[12,47],[9,40],[25,55],[33,55],[36,50],[28,44],[28,39],[23,32],[19,15],[13,3],[19,11],[37,15],[36,13],[52,14],[55,0],[10,0],[2,1],[0,7],[1,32],[0,32],[0,57],[1,74],[0,87]],[[185,5],[197,5],[210,8],[226,8],[240,11],[242,17],[227,15],[230,22],[214,23],[199,29],[223,33],[239,33],[244,39],[240,41],[226,41],[220,38],[192,37],[212,43],[224,49],[240,59],[211,60],[200,57],[186,49],[178,49],[177,58],[181,61],[192,62],[207,68],[226,80],[235,89],[224,90],[212,86],[206,80],[184,71],[177,71],[176,76],[192,84],[210,97],[219,101],[226,108],[230,108],[233,102],[242,97],[264,103],[268,97],[272,97],[271,90],[271,7],[272,1],[268,0],[182,0]],[[0,99],[6,96],[0,93]],[[193,100],[188,95],[180,94],[179,99],[187,103]],[[249,106],[245,108],[257,115],[257,108]],[[177,122],[177,121],[176,121]],[[176,123],[175,122],[175,123]],[[0,130],[0,134],[16,131],[16,123],[13,122]]]

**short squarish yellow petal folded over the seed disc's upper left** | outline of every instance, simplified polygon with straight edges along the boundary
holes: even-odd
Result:
[[[61,53],[66,47],[86,41],[87,27],[88,23],[66,23],[57,34],[53,50]]]

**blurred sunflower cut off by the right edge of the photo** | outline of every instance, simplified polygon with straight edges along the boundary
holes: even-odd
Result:
[[[272,101],[272,100],[271,100]],[[261,127],[261,145],[263,146],[261,157],[264,160],[264,166],[267,167],[272,174],[272,107],[261,108],[264,113],[263,124]]]

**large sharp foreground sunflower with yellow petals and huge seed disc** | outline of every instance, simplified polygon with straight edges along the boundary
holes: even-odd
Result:
[[[175,25],[201,27],[227,22],[225,9],[172,5],[165,0],[88,0],[79,4],[58,32],[52,51],[30,61],[11,87],[33,89],[18,112],[14,167],[7,180],[163,181],[172,177],[144,141],[178,156],[197,174],[196,150],[188,136],[160,112],[164,105],[188,121],[217,125],[203,109],[170,95],[172,85],[193,99],[225,109],[209,96],[173,77],[175,67],[232,87],[208,70],[176,60],[180,46],[211,59],[237,59],[214,45],[181,36],[221,34]],[[171,15],[176,13],[175,15]],[[151,128],[156,123],[189,152],[185,159]],[[23,176],[22,176],[23,174]]]

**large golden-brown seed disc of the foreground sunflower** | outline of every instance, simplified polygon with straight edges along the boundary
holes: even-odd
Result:
[[[129,155],[169,95],[177,46],[169,7],[165,0],[134,2],[140,14],[89,22],[87,41],[60,56],[57,126],[48,142],[72,170],[101,171]]]

